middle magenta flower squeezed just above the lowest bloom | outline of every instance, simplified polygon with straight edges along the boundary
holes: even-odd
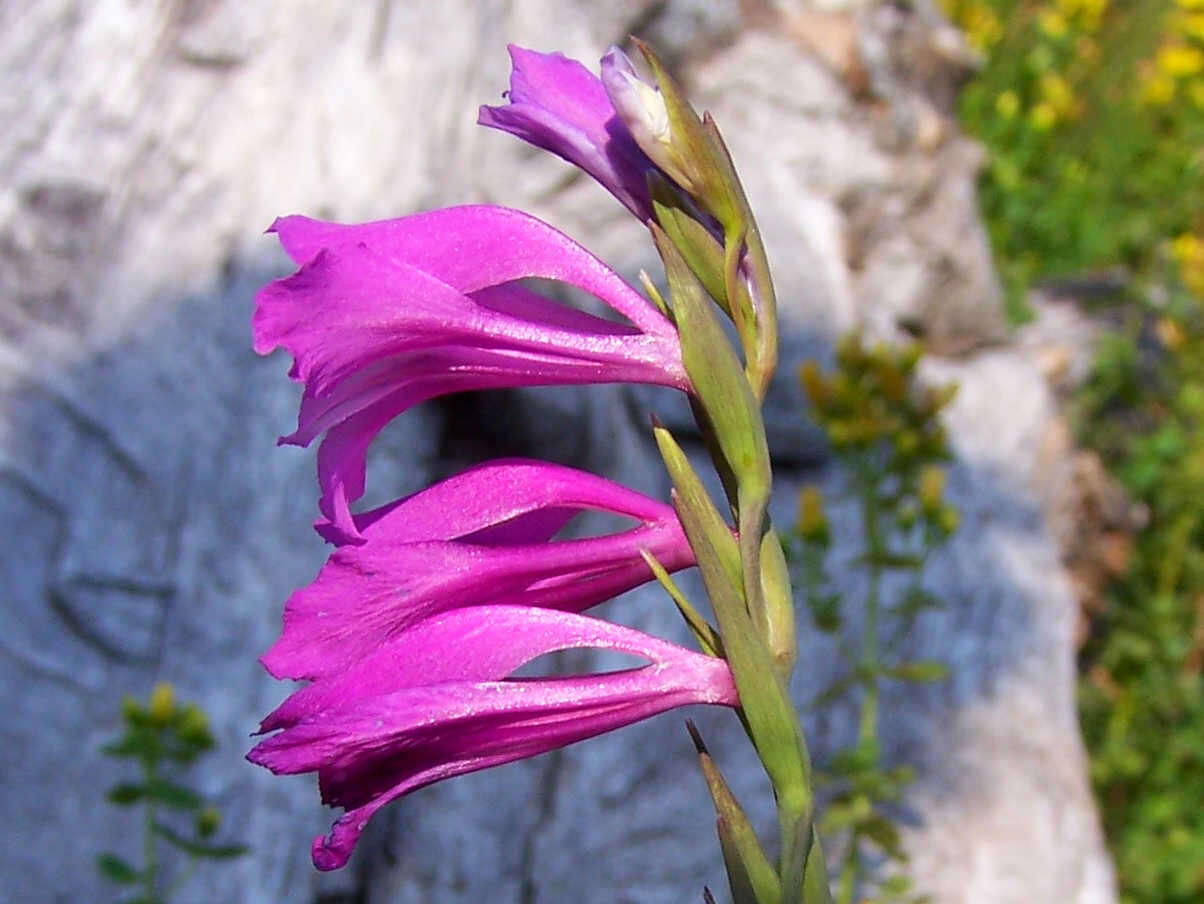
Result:
[[[553,542],[583,510],[637,526]],[[330,530],[319,525],[319,531]],[[667,569],[694,565],[671,506],[592,474],[537,461],[489,462],[355,518],[341,546],[284,608],[261,658],[277,678],[319,679],[441,611],[483,604],[582,611],[651,578],[641,550]]]

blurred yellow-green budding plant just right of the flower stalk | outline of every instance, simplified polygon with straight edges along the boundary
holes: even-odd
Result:
[[[834,373],[824,376],[814,364],[807,364],[799,374],[815,418],[849,474],[849,492],[860,503],[864,545],[854,565],[868,578],[866,598],[860,601],[861,646],[851,649],[842,642],[848,672],[811,704],[830,705],[860,691],[857,740],[838,752],[820,775],[831,794],[820,832],[840,841],[830,846],[842,851],[840,904],[923,900],[902,873],[875,875],[875,865],[884,861],[896,868],[905,863],[889,808],[914,780],[910,768],[887,768],[883,762],[878,741],[881,683],[939,681],[948,672],[939,662],[897,660],[898,645],[916,616],[938,604],[920,586],[927,557],[957,527],[957,512],[944,498],[942,462],[949,450],[938,418],[956,388],[920,388],[915,380],[919,358],[919,347],[867,349],[854,335],[840,342]],[[789,551],[802,572],[811,620],[820,630],[837,633],[855,601],[825,590],[828,543],[819,489],[805,488]],[[907,589],[891,598],[883,590],[887,572],[909,577]],[[870,894],[868,886],[873,886],[872,897],[866,897]]]

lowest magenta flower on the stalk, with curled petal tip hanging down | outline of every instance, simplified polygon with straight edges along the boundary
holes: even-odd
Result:
[[[615,650],[648,664],[509,678],[538,656],[573,648]],[[330,835],[314,839],[313,862],[337,869],[372,814],[402,794],[691,703],[737,705],[726,662],[571,613],[456,609],[295,692],[260,726],[279,733],[248,758],[277,774],[318,773],[323,800],[347,813]]]

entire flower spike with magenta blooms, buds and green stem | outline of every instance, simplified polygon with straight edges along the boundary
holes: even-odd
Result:
[[[270,737],[249,758],[277,773],[317,772],[325,799],[344,808],[314,843],[321,869],[343,865],[371,815],[418,787],[709,703],[737,710],[778,809],[773,859],[691,729],[733,897],[830,900],[810,758],[789,693],[793,595],[768,515],[761,403],[778,361],[768,261],[714,122],[636,46],[651,81],[618,48],[598,78],[560,54],[512,47],[508,102],[482,107],[479,122],[580,167],[645,223],[663,295],[644,277],[644,297],[551,226],[498,207],[360,225],[288,217],[271,230],[300,270],[259,294],[255,349],[294,356],[305,392],[297,430],[282,442],[321,437],[317,528],[336,549],[289,599],[262,660],[273,675],[309,684],[264,720]],[[532,277],[584,289],[626,323],[561,306],[521,282]],[[724,510],[655,418],[671,506],[571,468],[501,461],[380,509],[352,508],[370,443],[419,402],[616,382],[686,394]],[[636,524],[559,539],[582,510]],[[714,626],[669,577],[694,565]],[[701,652],[582,614],[654,578]],[[582,646],[647,664],[513,676],[538,656]]]

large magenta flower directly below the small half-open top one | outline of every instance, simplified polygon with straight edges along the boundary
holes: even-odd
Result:
[[[294,358],[297,430],[318,451],[321,513],[355,539],[373,437],[427,398],[471,389],[653,383],[689,390],[673,325],[602,261],[519,211],[474,206],[362,225],[285,217],[270,231],[301,268],[255,300],[255,350]],[[518,284],[556,279],[626,318]]]

